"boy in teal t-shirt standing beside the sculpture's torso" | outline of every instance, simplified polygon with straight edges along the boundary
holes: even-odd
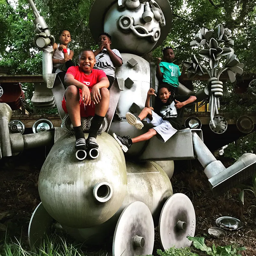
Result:
[[[179,86],[180,68],[173,64],[175,58],[172,47],[165,47],[163,49],[164,60],[157,58],[156,74],[158,79],[163,80],[161,84],[166,84],[177,95]]]

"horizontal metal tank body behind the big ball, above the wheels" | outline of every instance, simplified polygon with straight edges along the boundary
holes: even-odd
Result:
[[[172,184],[164,170],[155,162],[132,163],[126,161],[127,192],[123,204],[105,223],[92,228],[63,228],[76,240],[86,244],[105,243],[114,234],[116,223],[124,208],[140,201],[145,203],[158,225],[159,216],[166,200],[172,196]]]

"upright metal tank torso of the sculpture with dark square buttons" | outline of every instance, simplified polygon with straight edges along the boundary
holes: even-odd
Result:
[[[117,113],[120,116],[125,116],[127,112],[130,112],[129,108],[132,103],[136,103],[142,110],[145,107],[145,102],[147,99],[147,93],[150,84],[150,64],[147,60],[143,58],[130,54],[122,53],[122,58],[124,64],[116,69],[116,77],[122,77],[126,80],[128,77],[134,82],[132,87],[129,89],[124,86],[124,90],[120,94],[120,98],[116,107]],[[135,67],[131,67],[127,60],[133,58],[138,62]],[[156,79],[156,83],[158,83]],[[130,135],[131,138],[139,136],[148,131],[148,127],[145,126],[141,130],[136,129],[134,126],[127,123],[127,121],[122,119],[121,121],[115,121],[110,125],[109,134],[115,132],[121,136]],[[145,145],[145,141],[133,144],[129,151],[126,153],[127,156],[138,156]]]

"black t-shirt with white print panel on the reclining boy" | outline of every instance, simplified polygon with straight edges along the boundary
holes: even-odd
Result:
[[[175,128],[176,130],[180,130],[185,108],[182,107],[176,109],[174,107],[174,100],[183,102],[185,100],[188,100],[189,97],[190,96],[178,95],[175,96],[174,99],[172,99],[172,102],[169,101],[165,104],[163,104],[159,98],[156,98],[156,106],[154,108],[155,112],[158,116],[161,116],[164,120],[167,120],[170,124],[172,124],[173,128]]]

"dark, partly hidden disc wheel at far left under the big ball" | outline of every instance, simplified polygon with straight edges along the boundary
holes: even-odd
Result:
[[[44,209],[42,202],[37,205],[28,226],[28,243],[30,248],[39,247],[44,235],[51,234],[54,219]]]

